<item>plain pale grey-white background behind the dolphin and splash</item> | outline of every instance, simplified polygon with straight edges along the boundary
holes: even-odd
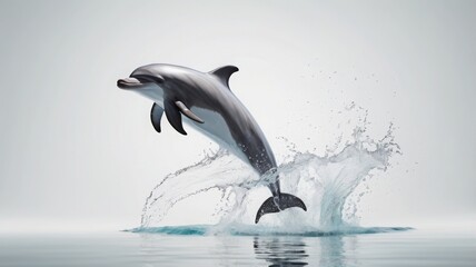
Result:
[[[475,11],[449,0],[1,1],[0,230],[138,226],[153,186],[200,159],[209,140],[168,123],[156,134],[152,103],[116,87],[152,62],[239,67],[231,89],[278,158],[278,137],[324,154],[339,135],[333,115],[354,101],[371,137],[394,122],[403,150],[369,182],[363,224],[470,225]]]

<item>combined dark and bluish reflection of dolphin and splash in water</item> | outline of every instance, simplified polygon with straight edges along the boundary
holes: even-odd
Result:
[[[256,258],[265,259],[269,266],[355,266],[358,263],[351,255],[356,246],[357,238],[350,236],[318,238],[257,236],[254,239]]]

